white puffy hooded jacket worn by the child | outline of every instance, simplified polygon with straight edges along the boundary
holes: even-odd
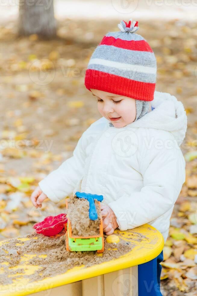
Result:
[[[80,137],[73,156],[39,186],[59,202],[76,191],[103,195],[120,230],[149,223],[167,240],[174,204],[185,182],[180,145],[187,129],[183,104],[155,91],[155,109],[116,128],[105,117]]]

